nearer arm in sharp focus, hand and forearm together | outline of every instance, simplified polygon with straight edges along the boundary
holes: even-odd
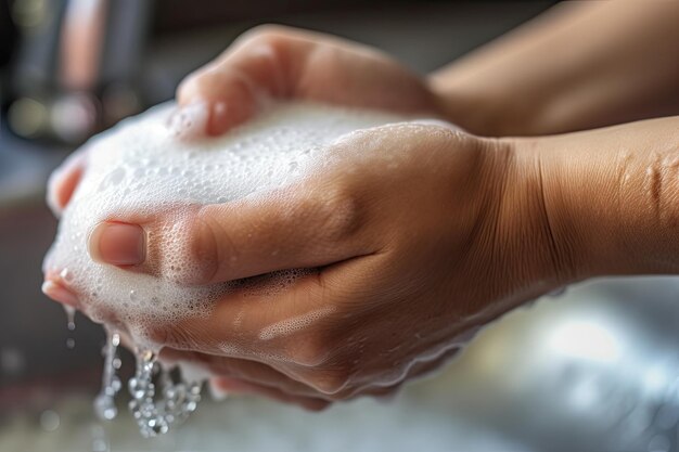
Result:
[[[229,293],[207,319],[162,325],[175,359],[197,360],[231,390],[245,382],[247,391],[322,406],[397,390],[559,286],[679,272],[679,117],[500,140],[401,124],[353,133],[329,152],[332,165],[274,196],[182,220],[181,249],[200,269],[193,284],[315,270],[280,293]],[[157,224],[143,228],[158,236]],[[114,245],[103,242],[90,235],[89,249]],[[179,253],[162,243],[145,255]],[[236,317],[246,321],[223,327]]]

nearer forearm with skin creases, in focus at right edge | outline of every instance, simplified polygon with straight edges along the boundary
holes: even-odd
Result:
[[[575,279],[679,273],[679,116],[512,142]]]

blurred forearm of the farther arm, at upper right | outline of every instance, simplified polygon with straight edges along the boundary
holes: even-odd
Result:
[[[452,121],[550,134],[679,113],[679,2],[573,2],[431,75]]]

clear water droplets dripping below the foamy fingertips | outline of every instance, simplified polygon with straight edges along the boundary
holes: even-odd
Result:
[[[94,400],[94,410],[102,421],[112,421],[118,414],[115,397],[121,388],[120,379],[116,375],[120,367],[120,360],[117,357],[119,344],[120,335],[107,332],[102,390]],[[128,405],[129,410],[145,438],[166,434],[172,426],[183,423],[196,410],[201,401],[201,384],[175,383],[169,371],[157,362],[156,354],[151,350],[137,351],[136,354],[137,372],[128,382],[132,398]],[[154,383],[156,376],[162,390],[157,397]]]

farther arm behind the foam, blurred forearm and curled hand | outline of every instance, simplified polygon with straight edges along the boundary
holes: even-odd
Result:
[[[176,133],[225,133],[270,98],[447,116],[482,135],[547,134],[679,113],[679,3],[566,7],[438,70],[428,85],[372,49],[259,27],[181,83]],[[207,125],[192,114],[207,116]],[[204,130],[182,130],[184,124]],[[85,162],[72,158],[51,178],[55,212]]]

